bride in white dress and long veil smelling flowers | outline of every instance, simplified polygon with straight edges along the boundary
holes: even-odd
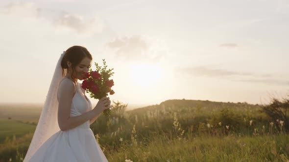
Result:
[[[94,109],[77,80],[88,72],[92,55],[82,46],[61,54],[24,162],[107,162],[90,129],[110,99]]]

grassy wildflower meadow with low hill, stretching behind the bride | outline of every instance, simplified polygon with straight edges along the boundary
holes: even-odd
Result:
[[[169,100],[130,111],[125,111],[126,105],[120,102],[112,107],[109,122],[101,115],[91,125],[109,162],[289,161],[289,136],[282,119],[269,118],[259,105]],[[33,119],[37,115],[30,116],[30,121]],[[3,121],[5,129],[15,126],[3,137],[33,129],[29,128],[32,123],[21,126],[25,121]],[[32,136],[23,133],[1,142],[0,162],[10,158],[21,162]]]

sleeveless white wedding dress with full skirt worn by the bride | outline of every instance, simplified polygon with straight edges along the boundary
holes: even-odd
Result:
[[[75,89],[70,116],[78,116],[92,109],[81,83],[77,82]],[[41,145],[29,162],[108,162],[89,125],[89,121],[86,121],[73,129],[56,132]]]

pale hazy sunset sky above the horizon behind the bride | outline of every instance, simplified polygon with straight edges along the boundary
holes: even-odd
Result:
[[[111,101],[289,97],[287,0],[1,0],[0,22],[0,103],[43,104],[73,45],[114,68]]]

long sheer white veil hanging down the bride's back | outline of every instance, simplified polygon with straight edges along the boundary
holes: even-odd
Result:
[[[60,55],[57,61],[56,68],[50,83],[46,101],[42,109],[38,124],[29,145],[28,151],[24,158],[24,162],[28,162],[37,149],[48,140],[53,134],[60,130],[57,120],[58,100],[57,93],[60,81],[67,73],[64,69],[64,76],[62,75],[61,61],[64,57],[65,51]]]

